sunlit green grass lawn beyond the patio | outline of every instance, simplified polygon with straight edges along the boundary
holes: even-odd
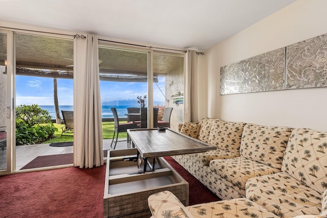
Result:
[[[120,122],[120,123],[124,123],[124,122]],[[45,141],[42,144],[45,143],[56,143],[56,142],[73,142],[73,135],[72,136],[62,136],[61,132],[62,129],[61,127],[63,127],[63,124],[56,124],[54,123],[55,127],[58,129],[58,131],[55,132],[55,138]],[[103,139],[112,139],[113,137],[113,129],[114,129],[114,122],[102,122],[102,134],[103,134]],[[67,135],[67,134],[65,134]],[[127,138],[127,133],[126,132],[120,132],[119,133],[119,139],[121,138]]]

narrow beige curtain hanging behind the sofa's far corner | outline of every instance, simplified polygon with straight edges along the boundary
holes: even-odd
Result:
[[[199,102],[201,77],[198,72],[198,55],[195,50],[188,50],[185,63],[183,122],[196,122],[202,118],[200,117],[202,109]]]

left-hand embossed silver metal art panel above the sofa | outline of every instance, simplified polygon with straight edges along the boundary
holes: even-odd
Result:
[[[285,89],[285,47],[220,68],[220,94]]]

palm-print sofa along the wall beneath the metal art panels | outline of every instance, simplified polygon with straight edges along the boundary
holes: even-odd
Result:
[[[184,123],[180,131],[217,146],[214,152],[173,158],[221,199],[246,197],[278,217],[321,212],[326,132],[209,118]]]

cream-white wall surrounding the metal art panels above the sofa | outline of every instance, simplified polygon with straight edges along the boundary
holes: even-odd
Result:
[[[327,88],[222,96],[219,81],[222,66],[326,34],[326,9],[325,0],[298,0],[205,51],[207,117],[327,131]]]

